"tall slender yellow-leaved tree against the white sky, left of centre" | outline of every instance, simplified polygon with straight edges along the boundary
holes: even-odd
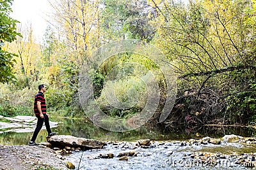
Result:
[[[62,32],[70,59],[81,63],[90,46],[89,38],[97,34],[100,1],[49,1],[54,9],[52,24]]]

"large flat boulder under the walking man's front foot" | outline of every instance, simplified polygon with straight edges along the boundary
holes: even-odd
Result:
[[[95,139],[77,138],[70,135],[56,135],[47,138],[47,141],[51,143],[53,147],[65,148],[69,146],[71,148],[82,148],[83,150],[102,148],[104,142],[97,141]]]

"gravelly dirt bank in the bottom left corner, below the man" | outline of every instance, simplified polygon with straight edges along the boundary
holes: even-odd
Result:
[[[0,169],[67,169],[54,150],[38,146],[0,146]]]

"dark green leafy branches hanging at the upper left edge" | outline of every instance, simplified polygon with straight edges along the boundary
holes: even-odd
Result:
[[[1,1],[0,5],[0,82],[8,83],[15,78],[12,73],[12,67],[15,62],[13,53],[3,49],[4,43],[11,43],[16,39],[16,36],[21,36],[16,32],[17,20],[9,17],[12,8],[10,7],[13,0]]]

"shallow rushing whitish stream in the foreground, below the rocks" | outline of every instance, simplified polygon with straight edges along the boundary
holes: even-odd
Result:
[[[134,148],[132,143],[123,142],[120,145],[108,144],[100,150],[75,152],[65,158],[77,169],[252,169],[246,167],[253,166],[252,161],[237,162],[241,160],[240,155],[229,155],[243,152],[242,157],[249,158],[253,155],[251,152],[255,151],[255,147],[248,148],[237,143],[187,145],[182,141],[161,141],[154,142],[150,148]],[[128,160],[119,160],[118,155],[130,152],[136,156],[129,156]],[[100,155],[109,153],[113,153],[115,157],[100,158]]]

